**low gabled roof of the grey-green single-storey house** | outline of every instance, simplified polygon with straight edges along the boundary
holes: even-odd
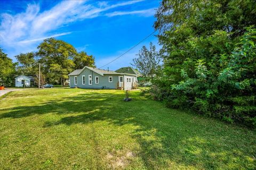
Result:
[[[71,73],[69,73],[68,75],[79,75],[85,68],[95,72],[95,73],[98,73],[100,75],[104,75],[104,74],[118,74],[118,75],[134,75],[134,74],[130,74],[130,73],[117,73],[115,71],[111,71],[111,70],[102,70],[102,69],[97,69],[97,68],[93,68],[93,67],[89,67],[89,66],[85,66],[83,69],[78,69],[78,70],[75,70]]]

